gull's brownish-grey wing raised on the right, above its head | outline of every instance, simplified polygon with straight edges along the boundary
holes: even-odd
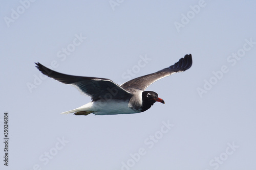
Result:
[[[121,85],[124,89],[137,88],[140,90],[145,90],[155,81],[162,79],[166,76],[170,76],[175,72],[182,72],[190,68],[192,65],[192,56],[191,54],[186,55],[184,58],[181,58],[174,65],[171,65],[167,68],[159,70],[153,74],[141,76],[133,80],[127,81]]]

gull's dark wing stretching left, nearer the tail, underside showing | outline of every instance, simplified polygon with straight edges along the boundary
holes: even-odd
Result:
[[[81,77],[61,74],[60,72],[53,71],[40,63],[35,63],[36,67],[42,74],[53,78],[61,83],[70,84],[75,86],[79,91],[91,96],[93,101],[104,99],[127,99],[126,97],[132,94],[110,79],[95,78],[95,77]]]

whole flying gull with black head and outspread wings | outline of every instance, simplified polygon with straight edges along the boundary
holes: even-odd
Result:
[[[145,91],[146,88],[159,79],[190,68],[192,56],[191,54],[185,55],[174,65],[152,74],[132,79],[121,85],[105,78],[66,75],[47,68],[39,62],[35,64],[42,74],[61,83],[75,86],[82,94],[91,97],[91,102],[61,114],[88,115],[93,113],[94,115],[116,115],[144,112],[156,102],[164,104],[164,100],[159,98],[156,92]]]

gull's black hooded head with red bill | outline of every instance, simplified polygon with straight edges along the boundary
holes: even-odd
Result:
[[[164,104],[164,101],[158,98],[158,94],[156,92],[154,91],[142,92],[142,112],[151,108],[151,106],[156,102],[161,102]]]

